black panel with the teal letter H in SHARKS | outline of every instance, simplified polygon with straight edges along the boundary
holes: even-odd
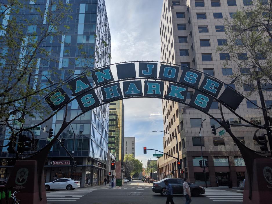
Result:
[[[113,83],[110,85],[102,86],[101,91],[104,102],[123,98],[120,83]]]

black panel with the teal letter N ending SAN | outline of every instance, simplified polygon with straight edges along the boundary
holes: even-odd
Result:
[[[93,70],[92,76],[93,76],[93,81],[95,82],[96,85],[114,81],[113,74],[111,73],[110,67]]]

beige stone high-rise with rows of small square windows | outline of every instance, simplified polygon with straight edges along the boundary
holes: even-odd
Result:
[[[180,65],[179,77],[182,69],[188,67],[214,76],[227,84],[231,81],[228,75],[247,71],[239,70],[235,64],[224,68],[224,59],[228,53],[216,51],[217,46],[226,42],[223,17],[232,18],[232,15],[241,8],[240,6],[249,5],[247,2],[165,0],[160,22],[161,61]],[[248,91],[235,87],[234,84],[230,85],[242,93]],[[164,92],[167,88],[166,82]],[[194,90],[189,88],[186,102],[190,101],[193,93]],[[258,96],[252,96],[251,99],[260,104]],[[244,100],[236,112],[249,121],[264,124],[262,114],[253,106]],[[223,108],[223,111],[225,110]],[[209,113],[221,119],[217,101],[212,103]],[[226,117],[230,123],[242,123],[234,114],[227,114]],[[206,121],[203,122],[200,139],[202,118]],[[183,177],[188,177],[192,183],[205,184],[203,169],[199,164],[202,145],[204,160],[208,161],[206,168],[208,185],[228,185],[229,181],[236,185],[236,182],[238,184],[244,179],[246,168],[240,151],[229,134],[218,136],[222,128],[217,130],[216,136],[212,134],[211,125],[218,127],[214,119],[181,103],[163,100],[163,121],[164,131],[178,138],[177,144],[173,136],[164,134],[164,152],[175,157],[177,151],[179,152],[182,168],[185,171]],[[253,139],[256,128],[231,126],[231,130],[247,147],[260,151],[260,146]],[[176,159],[169,156],[164,155],[159,159],[159,167],[160,178],[167,177],[172,170],[177,174]]]

